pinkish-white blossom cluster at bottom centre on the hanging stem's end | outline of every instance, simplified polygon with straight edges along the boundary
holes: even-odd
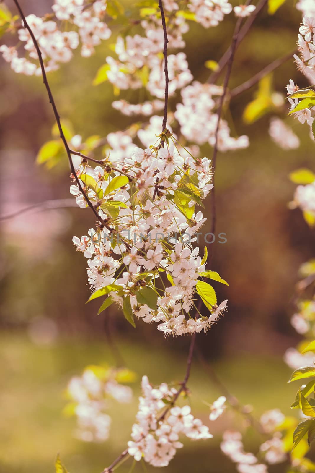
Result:
[[[132,440],[128,442],[128,454],[136,461],[144,458],[153,466],[167,466],[176,450],[183,447],[179,434],[194,440],[213,437],[208,427],[194,418],[189,406],[166,407],[174,402],[176,389],[169,388],[166,383],[154,388],[144,376],[142,393],[137,423],[132,426]]]

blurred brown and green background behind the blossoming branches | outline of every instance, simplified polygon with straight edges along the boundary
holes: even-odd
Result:
[[[21,4],[27,14],[41,15],[51,3],[24,0]],[[133,18],[138,18],[136,13]],[[293,50],[300,21],[291,0],[272,17],[264,9],[238,48],[231,88]],[[230,44],[234,24],[233,15],[209,30],[190,24],[186,53],[196,79],[207,79],[210,71],[204,62],[220,59]],[[111,84],[91,85],[96,70],[112,53],[109,44],[118,31],[112,28],[113,36],[92,58],[83,59],[77,52],[69,64],[49,76],[61,116],[72,122],[83,139],[92,134],[106,136],[132,123],[111,108]],[[1,213],[68,198],[67,162],[50,171],[35,164],[54,123],[42,80],[18,76],[4,61],[0,68]],[[285,95],[289,79],[300,87],[307,85],[293,61],[288,61],[273,74],[274,90]],[[251,125],[243,123],[243,110],[256,90],[257,86],[233,99],[227,115],[233,135],[249,135],[250,147],[219,154],[216,172],[217,233],[225,232],[227,243],[214,243],[213,269],[230,283],[230,287],[217,284],[215,288],[219,300],[229,299],[229,311],[211,332],[199,334],[197,342],[224,384],[242,403],[252,404],[258,416],[273,407],[289,413],[296,390],[286,385],[290,369],[282,355],[298,342],[289,323],[294,311],[291,298],[298,266],[314,254],[314,234],[299,210],[287,208],[295,188],[288,174],[298,167],[314,169],[314,143],[307,127],[291,118],[288,123],[301,146],[289,152],[276,147],[268,136],[271,114]],[[149,97],[137,91],[123,93],[122,98],[136,103]],[[170,101],[173,110],[175,103],[175,98]],[[285,115],[283,108],[279,116]],[[211,158],[212,150],[204,147],[202,153]],[[155,326],[141,322],[135,331],[114,308],[96,317],[99,303],[85,305],[90,292],[85,286],[86,260],[74,251],[71,239],[86,234],[93,225],[90,212],[78,208],[31,212],[2,222],[1,473],[53,472],[57,451],[72,473],[102,471],[130,438],[141,376],[147,374],[159,384],[179,380],[185,373],[187,337],[164,340]],[[64,391],[69,378],[81,374],[86,365],[114,363],[106,336],[109,318],[128,368],[138,374],[138,380],[132,405],[113,403],[110,439],[92,445],[73,437],[75,420],[62,415]],[[209,425],[209,409],[203,401],[212,403],[220,392],[197,360],[189,386],[194,414]],[[219,449],[219,434],[232,427],[244,427],[243,420],[225,414],[210,425],[210,431],[218,435],[208,441],[186,441],[164,471],[236,471]],[[261,442],[255,432],[248,431],[246,447],[256,452]],[[129,468],[125,464],[120,471]],[[270,468],[273,471],[281,473],[284,467]]]

